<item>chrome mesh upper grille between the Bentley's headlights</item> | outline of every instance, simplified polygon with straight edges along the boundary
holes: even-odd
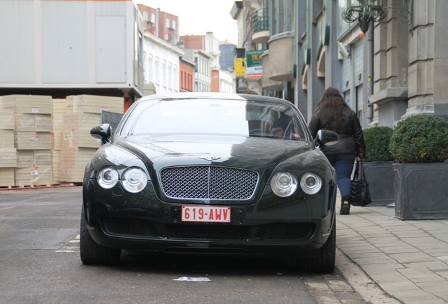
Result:
[[[170,198],[246,200],[255,191],[258,174],[228,167],[169,167],[161,171],[163,191]]]

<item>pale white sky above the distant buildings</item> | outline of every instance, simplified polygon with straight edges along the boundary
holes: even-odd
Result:
[[[219,40],[238,44],[237,20],[230,15],[235,0],[134,0],[179,17],[179,32],[204,35],[213,32]]]

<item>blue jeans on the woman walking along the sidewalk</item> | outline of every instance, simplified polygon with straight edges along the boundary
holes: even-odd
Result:
[[[350,178],[356,156],[353,154],[333,154],[327,156],[327,158],[336,170],[337,187],[341,191],[342,199],[344,199],[344,196],[350,196]]]

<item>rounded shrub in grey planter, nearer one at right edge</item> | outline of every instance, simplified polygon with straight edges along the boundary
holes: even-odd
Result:
[[[448,218],[448,122],[424,114],[406,118],[392,132],[390,151],[395,217]]]

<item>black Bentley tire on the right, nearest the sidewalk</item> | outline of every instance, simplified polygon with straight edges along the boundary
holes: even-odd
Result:
[[[311,258],[297,258],[297,270],[302,272],[331,273],[336,262],[336,219],[333,220],[330,236],[321,248],[321,254]]]

